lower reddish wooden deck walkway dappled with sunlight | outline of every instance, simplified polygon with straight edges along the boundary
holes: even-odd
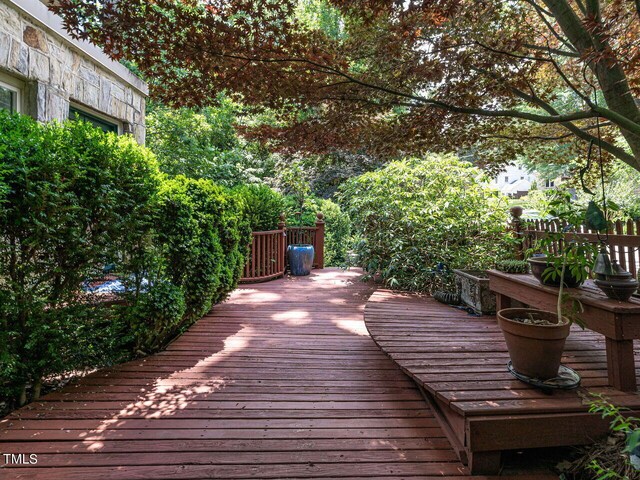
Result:
[[[0,422],[0,453],[37,465],[3,465],[0,478],[467,476],[369,337],[359,275],[240,288],[166,351],[18,410]]]

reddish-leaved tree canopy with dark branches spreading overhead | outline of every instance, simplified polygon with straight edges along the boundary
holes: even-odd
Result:
[[[469,148],[500,163],[531,144],[586,152],[600,142],[640,170],[639,2],[58,0],[52,8],[76,36],[135,59],[165,102],[206,105],[227,91],[279,112],[279,122],[248,133],[282,149]]]

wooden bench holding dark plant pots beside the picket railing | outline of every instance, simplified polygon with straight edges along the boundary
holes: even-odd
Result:
[[[541,285],[532,275],[489,271],[489,285],[496,294],[497,309],[509,308],[512,300],[532,308],[556,311],[558,288]],[[619,302],[607,298],[591,280],[579,288],[566,289],[584,311],[579,314],[585,328],[606,338],[609,385],[626,391],[637,390],[633,340],[640,338],[640,300]]]

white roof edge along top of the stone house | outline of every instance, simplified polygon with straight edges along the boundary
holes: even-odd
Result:
[[[105,70],[115,75],[129,86],[137,90],[144,96],[149,95],[149,87],[147,84],[136,77],[127,67],[121,63],[113,61],[99,47],[85,40],[73,39],[62,24],[62,18],[51,12],[46,5],[40,0],[5,0],[13,5],[22,13],[39,23],[43,28],[62,38],[65,42],[69,42],[73,48],[79,50],[80,53],[89,57]]]

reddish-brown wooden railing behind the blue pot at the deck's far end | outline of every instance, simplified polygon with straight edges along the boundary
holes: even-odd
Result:
[[[286,227],[284,215],[278,230],[253,232],[249,257],[240,283],[265,282],[282,277],[288,267],[287,247],[297,243],[313,245],[313,268],[324,268],[324,215],[317,214],[315,227]]]

